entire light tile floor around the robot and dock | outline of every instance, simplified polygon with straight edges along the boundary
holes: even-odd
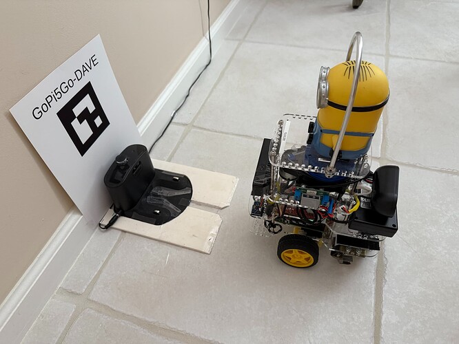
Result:
[[[96,232],[24,343],[458,343],[459,1],[248,2],[152,152],[240,178],[212,254]],[[389,77],[373,153],[400,166],[400,230],[374,259],[296,270],[249,232],[258,152],[278,116],[316,113],[356,30]]]

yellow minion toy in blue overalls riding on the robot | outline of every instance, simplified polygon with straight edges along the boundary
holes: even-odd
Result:
[[[319,111],[312,145],[325,157],[332,156],[338,142],[355,71],[356,61],[320,69],[317,89]],[[341,159],[356,159],[367,153],[387,100],[389,83],[384,72],[373,63],[362,61],[354,105],[340,147]]]

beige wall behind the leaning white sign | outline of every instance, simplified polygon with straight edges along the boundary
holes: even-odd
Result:
[[[211,2],[213,22],[230,0]],[[205,0],[0,1],[0,303],[72,207],[10,107],[101,34],[139,122],[202,38],[206,11]]]

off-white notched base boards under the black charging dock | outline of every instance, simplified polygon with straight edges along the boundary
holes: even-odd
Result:
[[[159,224],[161,221],[156,222],[156,220],[154,220],[155,224],[152,224],[142,219],[121,216],[111,228],[210,254],[222,222],[220,215],[213,211],[230,205],[238,178],[161,160],[152,160],[152,163],[156,173],[159,171],[169,173],[171,178],[186,175],[192,184],[191,202],[188,202],[189,205],[179,216],[163,224]],[[151,190],[166,196],[163,199],[167,200],[167,197],[174,197],[173,194],[177,192],[182,195],[176,196],[183,199],[187,192],[186,188],[185,186],[183,189],[174,191],[164,186],[153,186]],[[194,208],[194,205],[200,208]],[[203,206],[206,207],[206,210],[203,210]],[[109,209],[101,224],[108,224],[113,215],[113,209]]]

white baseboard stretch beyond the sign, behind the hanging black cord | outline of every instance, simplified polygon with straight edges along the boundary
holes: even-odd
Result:
[[[232,0],[210,27],[212,54],[216,53],[218,48],[221,47],[223,40],[230,33],[233,25],[243,13],[247,3],[247,0]],[[201,39],[174,78],[172,78],[158,99],[156,99],[156,102],[137,125],[143,139],[143,144],[146,147],[152,147],[154,141],[159,138],[167,126],[172,112],[179,107],[188,88],[190,88],[194,79],[208,61],[209,41],[206,36]]]

